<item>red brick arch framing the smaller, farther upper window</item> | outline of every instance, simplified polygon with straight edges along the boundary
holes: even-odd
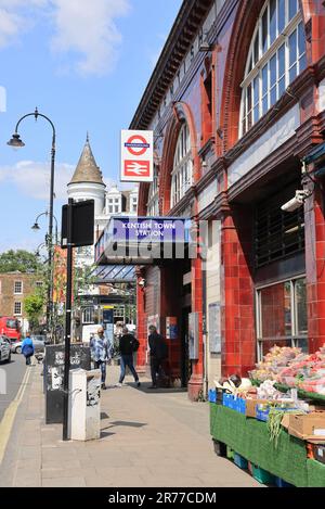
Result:
[[[197,149],[197,131],[194,123],[193,113],[188,104],[180,101],[173,105],[173,114],[167,125],[167,129],[165,132],[159,181],[159,200],[161,203],[162,214],[168,214],[168,212],[170,211],[171,168],[173,166],[174,151],[183,122],[187,123],[190,129],[194,183],[197,182],[200,177],[200,163]]]

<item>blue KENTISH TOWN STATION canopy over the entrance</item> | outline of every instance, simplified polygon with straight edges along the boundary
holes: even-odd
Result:
[[[95,244],[96,265],[146,265],[196,257],[196,230],[182,217],[112,217]]]

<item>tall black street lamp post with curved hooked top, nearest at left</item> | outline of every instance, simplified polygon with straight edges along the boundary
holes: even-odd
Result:
[[[34,113],[27,113],[27,115],[22,116],[17,122],[15,132],[12,136],[12,139],[8,142],[10,147],[14,149],[21,149],[25,147],[25,143],[22,141],[21,136],[18,135],[20,124],[27,117],[34,116],[37,120],[38,117],[44,118],[52,127],[52,149],[51,149],[51,183],[50,183],[50,211],[49,211],[49,267],[48,267],[48,302],[47,302],[47,329],[48,332],[51,330],[51,316],[53,307],[53,199],[54,199],[54,165],[55,165],[55,127],[52,120],[46,115],[38,112],[36,109]]]

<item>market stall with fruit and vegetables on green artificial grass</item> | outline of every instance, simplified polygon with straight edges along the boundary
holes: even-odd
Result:
[[[210,391],[216,451],[263,484],[325,487],[325,348],[274,347],[250,374]]]

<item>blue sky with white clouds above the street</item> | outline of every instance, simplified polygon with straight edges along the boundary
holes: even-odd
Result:
[[[0,253],[36,250],[30,227],[50,200],[51,126],[23,120],[24,149],[6,142],[37,106],[56,129],[55,216],[87,131],[106,183],[119,183],[128,128],[181,0],[0,0]],[[132,184],[131,184],[132,186]]]

